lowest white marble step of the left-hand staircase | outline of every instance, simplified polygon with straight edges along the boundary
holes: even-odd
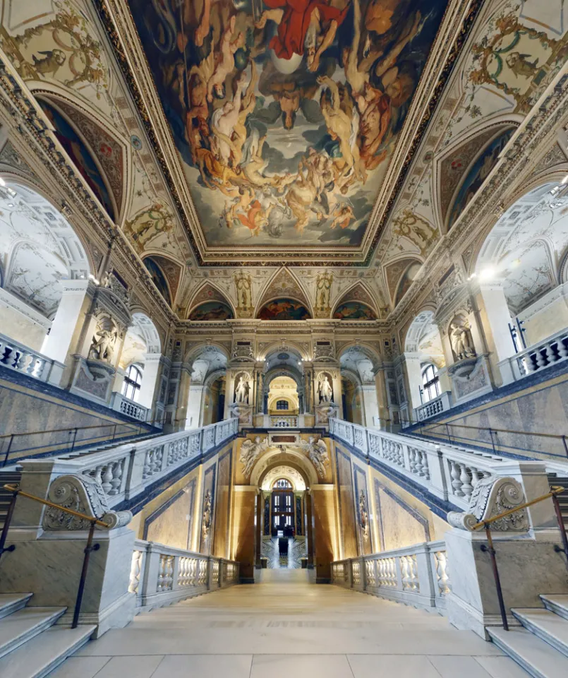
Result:
[[[0,658],[2,678],[42,678],[86,643],[97,627],[82,624],[53,626],[17,650]]]

